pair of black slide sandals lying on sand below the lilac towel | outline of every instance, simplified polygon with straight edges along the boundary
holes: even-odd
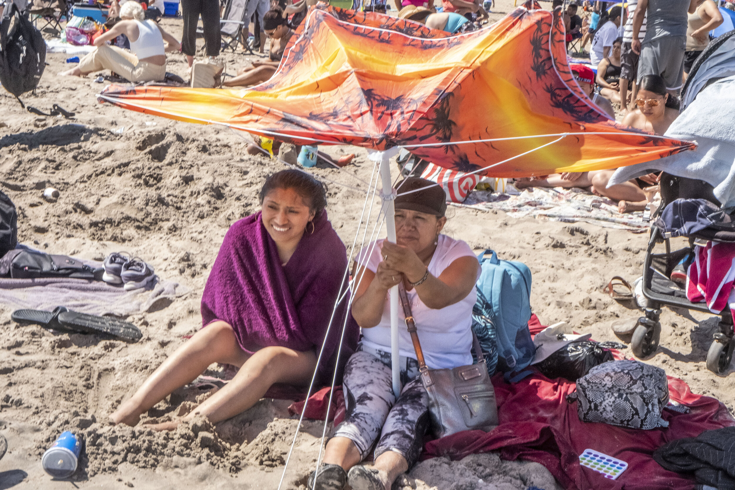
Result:
[[[114,317],[100,317],[94,314],[68,311],[63,306],[57,306],[54,311],[40,311],[32,309],[15,310],[10,318],[18,323],[37,323],[43,328],[72,333],[72,334],[108,334],[125,340],[137,342],[143,337],[140,330],[129,322],[123,322]]]

